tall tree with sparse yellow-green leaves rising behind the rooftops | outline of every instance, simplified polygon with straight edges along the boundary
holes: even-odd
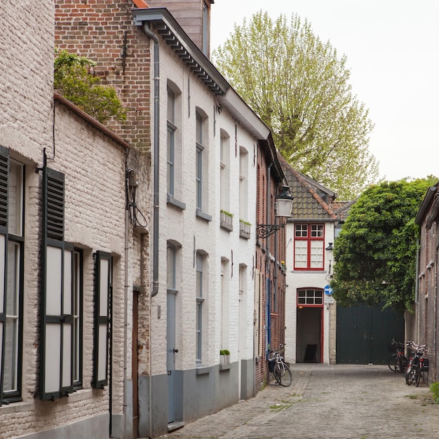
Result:
[[[377,180],[368,151],[373,124],[351,92],[346,57],[320,41],[309,22],[259,11],[235,24],[212,60],[294,168],[346,200]]]

